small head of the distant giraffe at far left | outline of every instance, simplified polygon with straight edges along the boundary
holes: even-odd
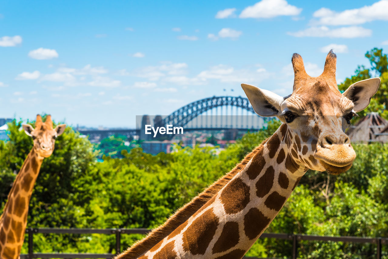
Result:
[[[36,154],[41,157],[49,157],[54,151],[55,139],[61,135],[66,128],[66,124],[59,124],[52,128],[51,116],[47,115],[46,121],[42,121],[42,117],[36,116],[35,129],[29,124],[23,124],[24,132],[31,136],[34,141]]]

